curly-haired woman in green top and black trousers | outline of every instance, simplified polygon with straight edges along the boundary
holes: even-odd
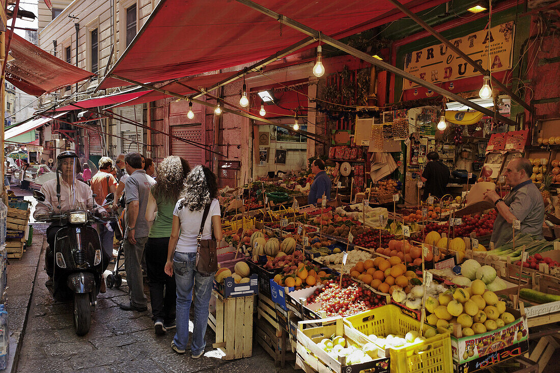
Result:
[[[190,172],[189,162],[166,157],[157,169],[157,183],[150,190],[146,220],[153,221],[146,242],[146,269],[150,285],[153,327],[157,335],[175,328],[175,278],[164,272],[171,236],[173,209]]]

